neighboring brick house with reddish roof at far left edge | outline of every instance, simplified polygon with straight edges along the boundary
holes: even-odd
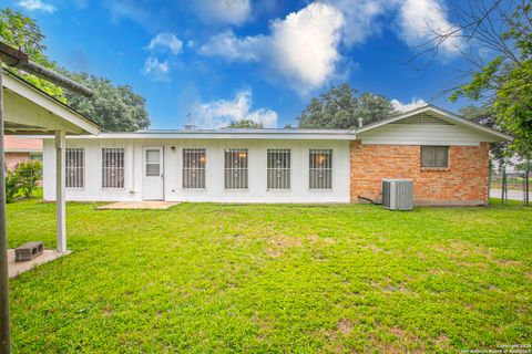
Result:
[[[42,140],[6,135],[3,140],[6,167],[12,170],[21,162],[42,159]]]

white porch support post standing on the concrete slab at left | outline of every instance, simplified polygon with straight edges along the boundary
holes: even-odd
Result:
[[[55,222],[58,252],[66,251],[66,202],[64,194],[64,132],[55,132]]]

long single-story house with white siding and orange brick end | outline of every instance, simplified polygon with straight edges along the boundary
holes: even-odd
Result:
[[[68,137],[69,200],[358,202],[411,178],[417,205],[485,205],[490,142],[511,136],[434,106],[352,131],[141,131]],[[53,140],[44,198],[53,199]]]

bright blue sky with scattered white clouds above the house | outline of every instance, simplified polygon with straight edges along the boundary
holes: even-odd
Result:
[[[38,20],[48,55],[127,84],[152,128],[250,118],[295,125],[309,98],[348,82],[400,110],[430,102],[463,65],[451,40],[427,71],[406,62],[452,22],[443,0],[14,0]],[[422,64],[419,62],[418,64]],[[463,103],[461,103],[463,104]]]

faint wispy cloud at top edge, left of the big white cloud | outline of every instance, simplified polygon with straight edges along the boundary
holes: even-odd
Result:
[[[197,0],[196,14],[206,23],[242,24],[252,14],[250,0]]]

